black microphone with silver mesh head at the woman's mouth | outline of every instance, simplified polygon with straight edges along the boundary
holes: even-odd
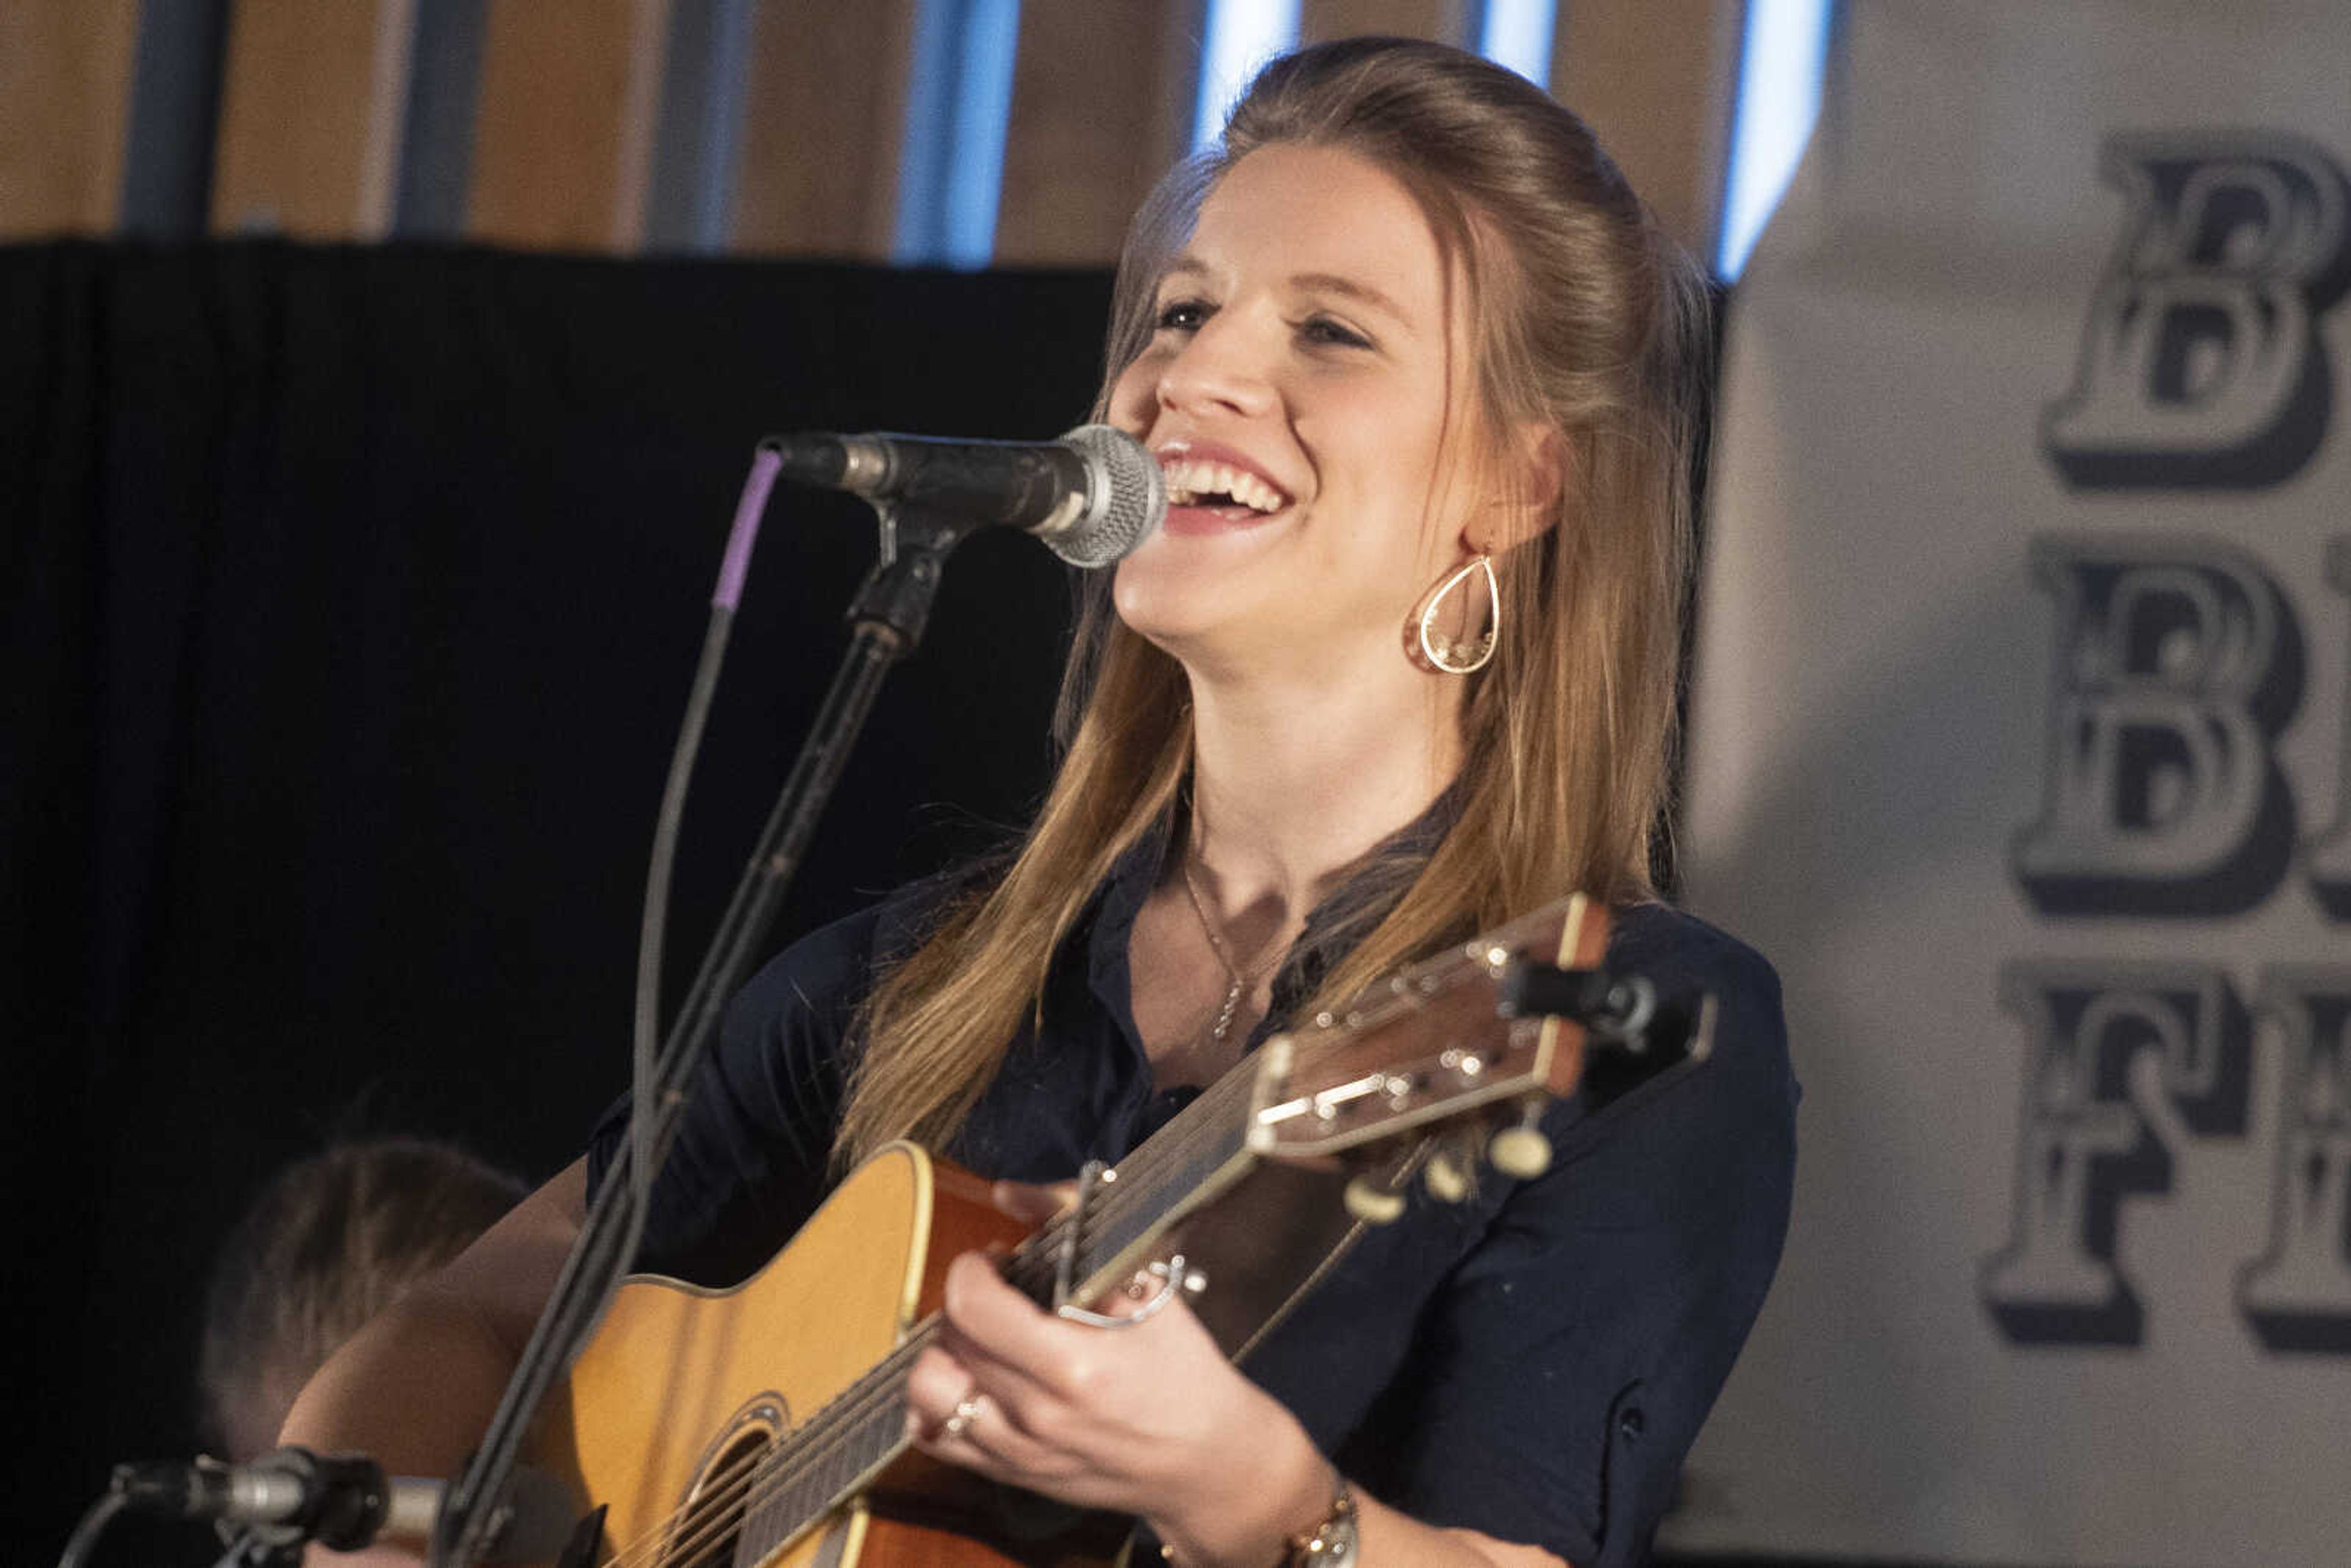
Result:
[[[1072,567],[1107,567],[1150,538],[1168,510],[1166,475],[1143,442],[1079,425],[1053,442],[955,442],[929,435],[771,435],[759,442],[795,484],[846,489],[1027,529]]]

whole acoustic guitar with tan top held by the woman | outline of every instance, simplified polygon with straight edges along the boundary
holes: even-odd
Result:
[[[1575,1091],[1587,1034],[1500,1016],[1500,985],[1521,959],[1596,971],[1606,940],[1606,907],[1570,898],[1392,976],[1270,1039],[1117,1168],[1089,1168],[1034,1234],[997,1213],[987,1182],[900,1143],[743,1284],[623,1281],[534,1432],[534,1467],[602,1512],[567,1566],[1114,1559],[1131,1519],[1009,1493],[910,1446],[905,1375],[938,1333],[947,1262],[1011,1246],[1004,1276],[1046,1307],[1180,1291],[1246,1356],[1366,1222],[1401,1211],[1415,1175],[1462,1180],[1436,1152],[1441,1124],[1500,1117],[1500,1168],[1547,1161],[1533,1119]]]

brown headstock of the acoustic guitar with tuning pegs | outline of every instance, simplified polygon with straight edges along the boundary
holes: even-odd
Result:
[[[1563,1018],[1505,1018],[1502,978],[1521,961],[1599,969],[1606,950],[1608,907],[1575,893],[1277,1034],[1258,1053],[1248,1147],[1267,1159],[1317,1159],[1575,1093],[1585,1030]]]

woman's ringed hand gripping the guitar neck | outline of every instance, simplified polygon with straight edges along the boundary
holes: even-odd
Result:
[[[1096,1328],[1039,1309],[966,1253],[947,1267],[943,1319],[907,1378],[910,1429],[933,1458],[1140,1514],[1183,1561],[1277,1561],[1328,1507],[1328,1462],[1180,1295],[1147,1321]]]

